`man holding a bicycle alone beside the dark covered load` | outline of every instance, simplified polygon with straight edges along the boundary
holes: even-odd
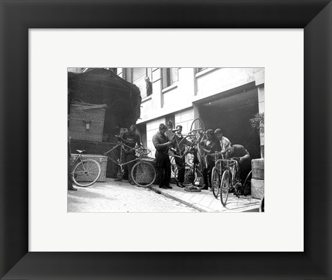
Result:
[[[140,143],[140,135],[136,133],[135,125],[131,125],[129,131],[124,132],[124,134],[122,135],[122,141],[127,147],[124,146],[124,148],[122,148],[121,162],[123,164],[124,162],[131,161],[126,165],[128,168],[129,183],[134,185],[135,183],[133,182],[133,178],[131,178],[131,168],[133,167],[133,164],[135,164],[135,161],[133,161],[135,160],[135,150],[133,150],[133,148],[142,146],[142,144]],[[121,168],[118,168],[118,174],[116,176],[115,181],[121,182],[122,177],[123,177],[123,172],[121,172]]]

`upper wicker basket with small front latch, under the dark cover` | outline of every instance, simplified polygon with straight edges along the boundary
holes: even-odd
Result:
[[[69,135],[72,139],[102,141],[106,105],[71,105]]]

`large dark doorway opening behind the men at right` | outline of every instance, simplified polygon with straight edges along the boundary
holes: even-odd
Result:
[[[259,133],[251,128],[249,121],[258,112],[257,89],[199,105],[205,129],[221,128],[224,136],[232,144],[244,146],[252,159],[261,157]]]

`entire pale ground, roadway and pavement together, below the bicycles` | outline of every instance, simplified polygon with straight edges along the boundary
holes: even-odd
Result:
[[[230,194],[225,207],[211,191],[190,193],[172,184],[173,189],[132,186],[127,180],[96,182],[86,188],[68,191],[68,212],[257,212],[255,198]],[[156,193],[156,191],[161,194]]]

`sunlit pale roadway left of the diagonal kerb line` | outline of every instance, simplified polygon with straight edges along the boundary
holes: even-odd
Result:
[[[97,182],[92,186],[68,191],[68,212],[199,212],[181,202],[132,186],[127,180]]]

